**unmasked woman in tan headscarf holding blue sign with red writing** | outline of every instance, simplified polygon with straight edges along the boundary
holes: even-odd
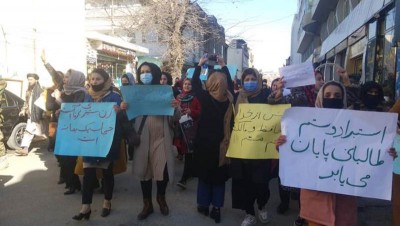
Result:
[[[123,114],[119,107],[121,104],[121,96],[112,89],[112,79],[107,72],[103,69],[94,69],[90,75],[89,95],[86,95],[85,102],[115,102],[114,110],[117,113],[117,119],[112,145],[107,157],[83,158],[82,207],[79,214],[72,218],[74,220],[90,218],[92,212],[90,205],[92,204],[94,182],[97,180],[96,169],[102,169],[104,182],[104,201],[101,216],[107,217],[111,213],[111,199],[114,190],[113,161],[119,158],[122,137],[121,121],[123,120]]]

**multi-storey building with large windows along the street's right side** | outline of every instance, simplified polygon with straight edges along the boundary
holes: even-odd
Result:
[[[312,61],[346,68],[353,83],[380,83],[394,101],[396,1],[301,0],[292,24],[290,64]],[[398,21],[400,23],[400,21]],[[338,80],[324,67],[326,80]]]

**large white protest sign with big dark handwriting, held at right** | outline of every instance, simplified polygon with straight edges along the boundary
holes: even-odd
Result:
[[[390,200],[397,114],[293,107],[282,118],[285,186]]]

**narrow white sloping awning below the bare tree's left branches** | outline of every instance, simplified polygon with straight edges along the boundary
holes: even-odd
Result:
[[[120,38],[108,36],[105,34],[101,34],[99,32],[87,31],[86,38],[102,41],[102,42],[112,44],[112,45],[115,45],[115,46],[118,46],[118,47],[121,47],[124,49],[132,50],[132,51],[135,51],[136,53],[149,54],[149,49],[146,47],[135,45],[133,43],[126,42]]]

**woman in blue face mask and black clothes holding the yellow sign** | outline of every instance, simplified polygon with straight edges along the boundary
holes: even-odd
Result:
[[[242,87],[235,104],[235,113],[242,103],[267,103],[269,89],[263,89],[262,76],[254,68],[243,71]],[[258,217],[262,223],[268,222],[266,204],[269,200],[269,180],[271,160],[231,158],[232,207],[246,212],[242,226],[255,225],[254,202],[257,201]]]

